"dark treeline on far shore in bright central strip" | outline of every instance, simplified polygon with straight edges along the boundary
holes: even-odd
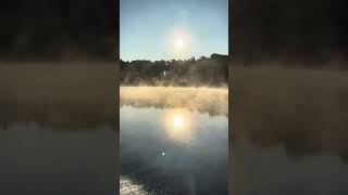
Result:
[[[123,86],[227,86],[228,55],[171,61],[120,61]]]

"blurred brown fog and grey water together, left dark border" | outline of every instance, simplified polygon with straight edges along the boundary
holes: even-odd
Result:
[[[0,65],[0,192],[114,194],[115,66]]]

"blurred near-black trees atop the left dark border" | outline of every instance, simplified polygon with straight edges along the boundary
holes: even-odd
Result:
[[[5,0],[1,61],[104,60],[117,55],[116,1]]]

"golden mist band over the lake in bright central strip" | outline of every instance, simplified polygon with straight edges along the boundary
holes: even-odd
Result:
[[[121,87],[120,104],[135,107],[176,108],[228,115],[227,88]]]

